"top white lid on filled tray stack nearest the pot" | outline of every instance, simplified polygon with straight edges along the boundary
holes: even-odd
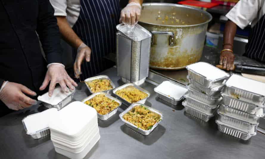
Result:
[[[198,62],[187,66],[188,69],[206,77],[210,80],[229,77],[225,71],[205,62]]]

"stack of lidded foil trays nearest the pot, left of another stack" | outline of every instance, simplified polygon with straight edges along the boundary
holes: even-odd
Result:
[[[186,113],[203,121],[214,116],[221,102],[223,81],[229,77],[225,71],[204,62],[186,66],[188,70],[188,92],[183,101]]]

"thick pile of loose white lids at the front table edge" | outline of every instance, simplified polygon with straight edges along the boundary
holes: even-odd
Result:
[[[55,151],[68,158],[84,158],[100,138],[97,112],[82,102],[53,114],[49,128]]]

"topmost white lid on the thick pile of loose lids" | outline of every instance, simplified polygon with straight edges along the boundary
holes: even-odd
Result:
[[[84,129],[88,123],[97,121],[97,112],[94,108],[82,102],[72,102],[58,113],[49,123],[51,131],[61,132],[62,134],[73,136]]]

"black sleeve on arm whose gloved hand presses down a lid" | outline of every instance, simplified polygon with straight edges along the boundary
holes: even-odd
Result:
[[[54,9],[49,0],[39,0],[39,14],[37,33],[49,63],[62,63],[62,49],[60,45],[60,32]]]

